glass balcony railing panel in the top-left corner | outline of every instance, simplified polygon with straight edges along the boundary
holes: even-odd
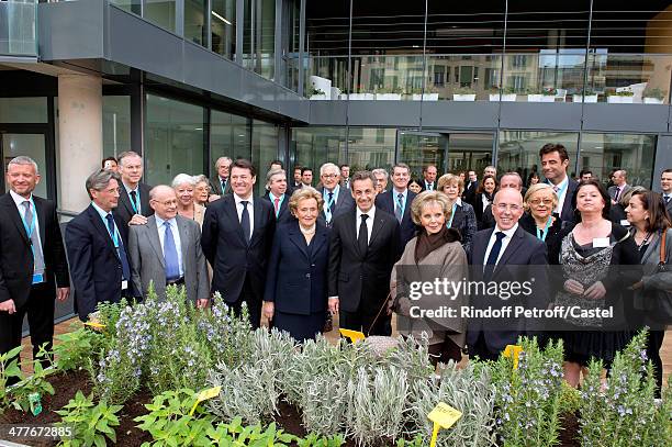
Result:
[[[0,1],[0,56],[37,56],[37,0]]]

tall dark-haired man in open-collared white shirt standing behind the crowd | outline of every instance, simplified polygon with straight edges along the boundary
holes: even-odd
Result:
[[[539,150],[539,157],[546,182],[553,187],[553,191],[558,194],[558,206],[555,213],[560,216],[563,224],[573,222],[572,197],[576,192],[579,182],[567,175],[569,166],[567,149],[561,144],[548,143]]]

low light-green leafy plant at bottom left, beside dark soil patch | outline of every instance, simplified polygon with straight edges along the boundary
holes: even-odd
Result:
[[[77,391],[74,399],[56,413],[61,416],[57,423],[60,427],[70,427],[72,437],[63,439],[65,447],[104,446],[109,439],[116,443],[115,427],[119,424],[119,413],[122,405],[108,405],[101,401],[94,404],[81,391]]]

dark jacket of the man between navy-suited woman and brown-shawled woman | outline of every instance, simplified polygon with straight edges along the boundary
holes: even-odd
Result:
[[[329,242],[329,297],[338,297],[343,311],[376,313],[388,298],[390,273],[399,258],[396,219],[376,210],[367,253],[357,243],[356,209],[334,220]]]

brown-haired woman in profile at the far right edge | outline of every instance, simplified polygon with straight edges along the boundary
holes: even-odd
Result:
[[[653,373],[660,398],[662,387],[662,360],[660,347],[665,336],[665,326],[672,319],[672,266],[661,268],[662,238],[665,244],[662,259],[665,266],[672,261],[672,231],[670,216],[662,197],[652,191],[632,193],[626,208],[630,234],[635,237],[643,276],[632,287],[634,306],[641,314],[641,324],[649,326],[647,356],[653,364]]]

